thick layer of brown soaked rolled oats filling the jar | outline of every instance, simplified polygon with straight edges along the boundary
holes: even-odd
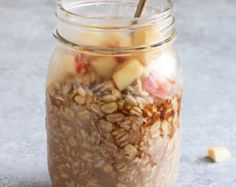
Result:
[[[160,101],[143,91],[140,81],[121,92],[112,81],[101,82],[96,76],[90,72],[48,85],[49,167],[59,171],[53,172],[54,183],[159,184],[156,173],[163,158],[174,161],[172,152],[178,151],[180,96]],[[163,173],[173,167],[168,165]],[[111,183],[105,183],[104,176]]]

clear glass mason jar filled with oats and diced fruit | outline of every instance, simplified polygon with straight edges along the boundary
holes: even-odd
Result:
[[[181,67],[169,1],[59,1],[48,67],[54,187],[171,187],[180,157]]]

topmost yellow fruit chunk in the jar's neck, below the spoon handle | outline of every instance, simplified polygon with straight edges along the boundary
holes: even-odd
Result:
[[[134,32],[133,44],[134,46],[151,45],[160,41],[157,27],[147,27]]]

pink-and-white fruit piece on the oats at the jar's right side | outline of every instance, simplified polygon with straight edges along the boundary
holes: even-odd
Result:
[[[150,73],[143,81],[143,89],[158,98],[165,99],[169,96],[174,83],[167,77]]]

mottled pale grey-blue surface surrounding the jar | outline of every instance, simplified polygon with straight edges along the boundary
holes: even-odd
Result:
[[[49,187],[44,82],[55,46],[52,0],[0,0],[0,187]],[[177,187],[234,187],[236,160],[214,164],[209,146],[236,155],[236,1],[176,0],[185,94]]]

